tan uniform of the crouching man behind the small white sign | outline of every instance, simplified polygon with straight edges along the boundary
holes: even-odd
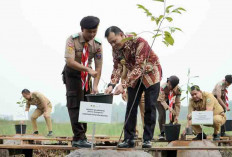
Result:
[[[217,99],[211,93],[202,92],[202,98],[198,102],[194,102],[190,99],[189,102],[189,114],[192,111],[205,111],[206,107],[213,107],[213,125],[214,134],[220,133],[221,126],[226,122],[226,115],[222,106],[218,103]],[[192,129],[196,134],[202,133],[200,125],[192,125]]]

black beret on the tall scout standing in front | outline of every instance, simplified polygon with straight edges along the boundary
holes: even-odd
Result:
[[[80,25],[81,25],[81,28],[84,28],[84,29],[95,29],[98,27],[99,22],[100,22],[100,19],[98,17],[86,16],[81,20]]]

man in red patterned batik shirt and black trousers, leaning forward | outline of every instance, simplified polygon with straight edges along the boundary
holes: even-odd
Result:
[[[124,129],[124,142],[119,144],[118,147],[131,148],[135,146],[134,137],[137,109],[141,95],[145,91],[145,126],[142,147],[150,148],[156,124],[156,105],[162,77],[159,58],[143,38],[123,40],[128,36],[116,26],[109,27],[105,32],[105,37],[113,48],[114,62],[111,82],[105,91],[106,93],[111,93],[121,78],[123,70],[120,63],[121,58],[125,59],[125,66],[128,69],[126,80],[122,80],[114,92],[117,95],[123,93],[125,88],[128,91],[125,122],[127,119],[128,121]],[[132,105],[133,108],[129,116]]]

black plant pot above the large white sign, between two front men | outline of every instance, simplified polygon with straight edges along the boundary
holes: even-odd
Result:
[[[87,97],[88,102],[97,102],[97,103],[113,103],[113,95],[112,94],[87,94],[85,95]]]

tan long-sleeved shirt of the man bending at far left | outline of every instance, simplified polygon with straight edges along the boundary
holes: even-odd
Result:
[[[52,107],[52,104],[48,98],[39,92],[31,93],[31,99],[27,100],[26,109],[29,109],[31,105],[36,105],[37,108],[42,111],[44,111],[45,106]]]

